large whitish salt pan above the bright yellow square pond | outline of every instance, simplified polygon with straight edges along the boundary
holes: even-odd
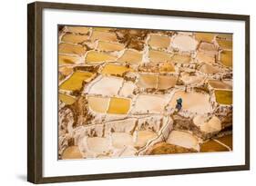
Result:
[[[115,76],[98,76],[97,79],[91,82],[84,93],[97,94],[105,96],[118,95],[118,91],[123,84],[123,78]]]

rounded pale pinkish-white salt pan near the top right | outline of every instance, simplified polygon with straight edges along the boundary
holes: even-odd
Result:
[[[190,52],[197,49],[198,42],[189,35],[178,34],[174,36],[171,45],[179,51]]]

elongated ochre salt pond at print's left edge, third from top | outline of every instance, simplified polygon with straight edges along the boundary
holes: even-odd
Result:
[[[82,45],[61,43],[58,44],[58,53],[84,55],[86,50]]]

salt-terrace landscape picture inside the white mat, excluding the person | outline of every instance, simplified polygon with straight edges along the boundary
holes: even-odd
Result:
[[[59,160],[232,151],[232,34],[58,34]]]

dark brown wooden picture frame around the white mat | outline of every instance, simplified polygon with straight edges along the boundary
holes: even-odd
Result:
[[[42,105],[43,105],[43,73],[42,73],[42,12],[43,9],[96,11],[139,15],[167,15],[179,17],[210,18],[240,20],[245,22],[245,164],[207,168],[133,171],[121,173],[105,173],[93,175],[68,175],[63,177],[43,177],[43,144],[42,144]],[[227,15],[200,12],[185,12],[130,7],[114,7],[101,5],[75,5],[35,2],[27,5],[27,181],[33,183],[92,181],[105,179],[134,178],[147,176],[163,176],[216,171],[250,170],[250,15]]]

